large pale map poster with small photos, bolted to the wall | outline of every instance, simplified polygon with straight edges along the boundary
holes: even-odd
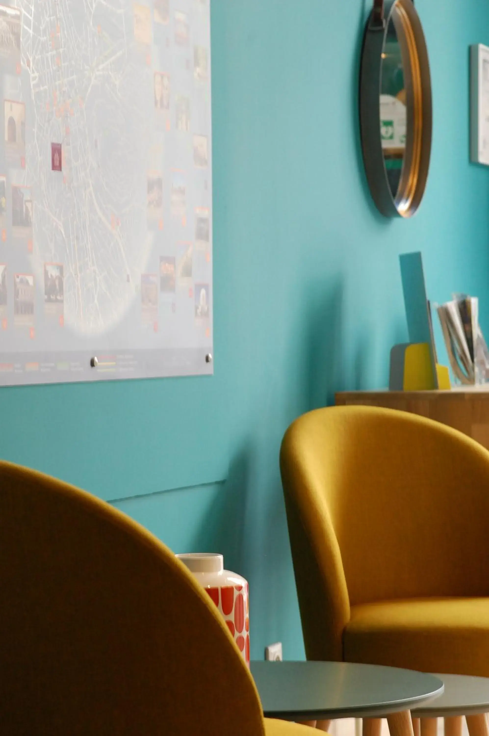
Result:
[[[213,372],[210,0],[0,0],[0,386]]]

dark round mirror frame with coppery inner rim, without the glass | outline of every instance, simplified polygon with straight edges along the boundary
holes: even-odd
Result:
[[[382,53],[390,20],[396,27],[407,99],[406,152],[396,197],[390,191],[380,137]],[[432,90],[423,28],[412,0],[374,0],[363,40],[360,131],[368,185],[386,217],[411,217],[426,188],[432,144]]]

